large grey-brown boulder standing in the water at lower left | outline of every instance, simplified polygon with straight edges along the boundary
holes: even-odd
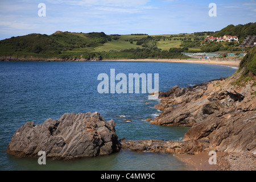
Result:
[[[106,122],[99,113],[66,113],[60,119],[47,119],[41,125],[27,122],[13,135],[6,152],[20,157],[69,160],[108,155],[119,150],[115,122]]]

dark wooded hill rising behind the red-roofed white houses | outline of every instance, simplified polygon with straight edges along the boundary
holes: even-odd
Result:
[[[223,28],[220,31],[214,32],[212,34],[214,37],[221,37],[224,35],[236,35],[240,42],[246,38],[248,35],[256,35],[256,22],[255,23],[247,23],[247,24],[238,24],[234,26],[230,24],[229,26]]]

